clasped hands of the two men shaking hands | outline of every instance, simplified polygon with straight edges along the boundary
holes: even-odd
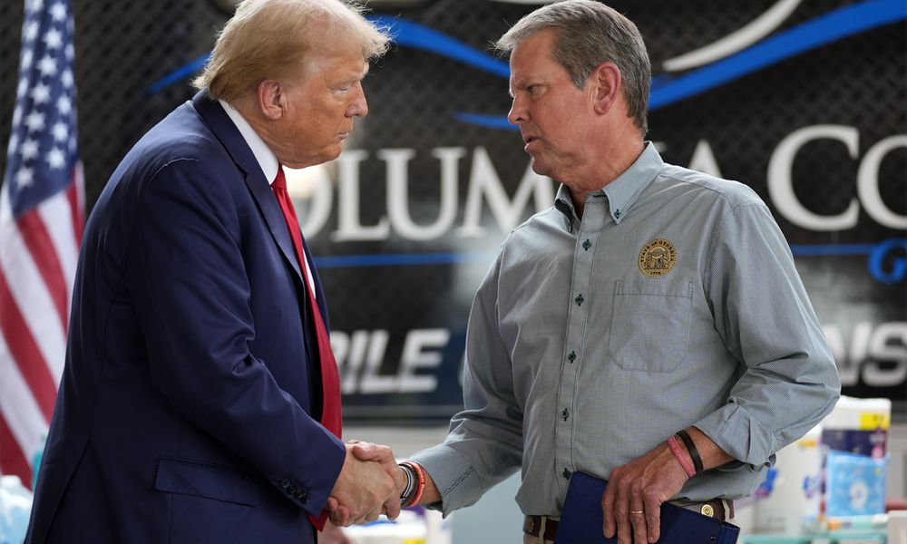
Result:
[[[394,520],[400,515],[406,484],[406,474],[390,448],[351,440],[325,509],[337,527],[374,521],[381,514]]]

